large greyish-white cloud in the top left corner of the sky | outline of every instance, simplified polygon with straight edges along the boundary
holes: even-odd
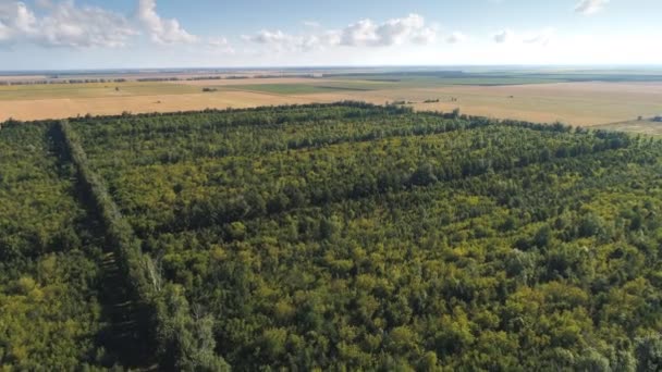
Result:
[[[73,0],[40,2],[40,7],[49,12],[37,17],[23,2],[0,4],[0,40],[46,47],[121,47],[137,34],[124,16],[100,8],[79,8]]]

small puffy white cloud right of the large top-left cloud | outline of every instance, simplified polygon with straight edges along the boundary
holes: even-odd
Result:
[[[156,11],[156,0],[138,0],[137,18],[147,28],[154,42],[160,45],[191,44],[198,38],[186,32],[175,18],[166,20]]]

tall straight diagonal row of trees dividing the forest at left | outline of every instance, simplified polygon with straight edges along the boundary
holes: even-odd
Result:
[[[166,283],[157,264],[142,252],[140,241],[122,218],[103,182],[91,171],[85,151],[68,122],[59,124],[73,160],[83,190],[94,204],[89,208],[103,221],[107,238],[118,253],[121,269],[130,278],[135,300],[139,303],[142,337],[152,348],[160,368],[172,370],[228,370],[228,364],[214,354],[209,317],[196,317],[182,288]]]

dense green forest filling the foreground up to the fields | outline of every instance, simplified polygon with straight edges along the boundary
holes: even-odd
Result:
[[[661,160],[361,102],[11,121],[0,368],[659,371]]]

